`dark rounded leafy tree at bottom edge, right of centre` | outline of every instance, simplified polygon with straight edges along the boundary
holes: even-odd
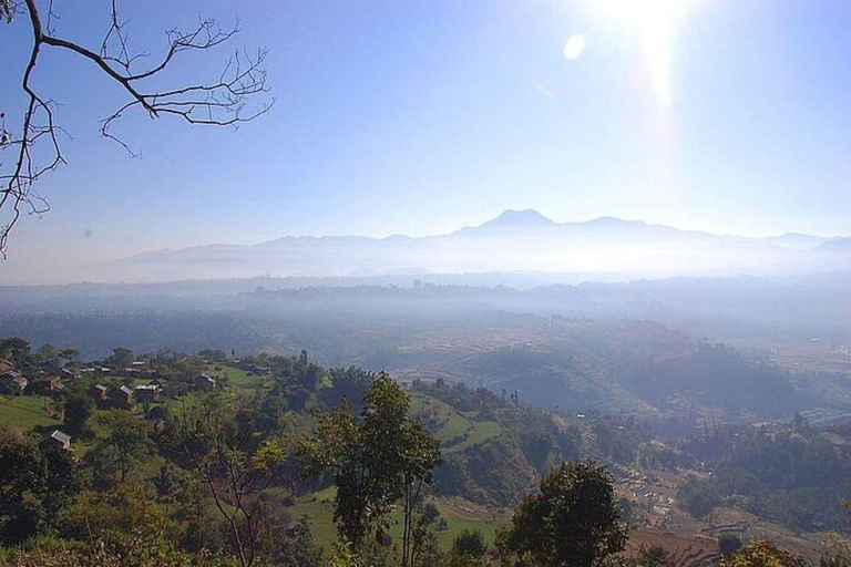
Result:
[[[540,494],[517,507],[500,545],[534,565],[593,567],[626,540],[612,475],[583,461],[564,463],[541,481]]]

